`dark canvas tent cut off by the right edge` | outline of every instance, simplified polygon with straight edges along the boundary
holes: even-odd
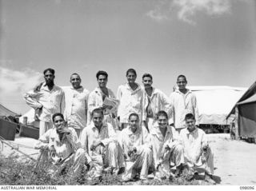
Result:
[[[256,82],[237,101],[227,118],[232,116],[235,137],[256,137]]]

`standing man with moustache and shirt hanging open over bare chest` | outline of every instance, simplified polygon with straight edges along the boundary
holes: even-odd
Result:
[[[151,74],[143,74],[142,83],[144,85],[142,121],[150,131],[156,121],[158,111],[164,110],[170,117],[172,105],[166,94],[163,94],[161,90],[152,87],[153,77]]]

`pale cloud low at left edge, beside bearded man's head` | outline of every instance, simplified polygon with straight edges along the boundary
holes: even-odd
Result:
[[[42,82],[42,74],[34,70],[18,71],[0,66],[1,94],[23,94],[39,82]]]

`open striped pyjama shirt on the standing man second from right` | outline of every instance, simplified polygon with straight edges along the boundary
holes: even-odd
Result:
[[[143,89],[143,113],[142,120],[146,120],[146,108],[149,105],[148,94],[146,94],[146,90]],[[172,105],[170,104],[170,98],[166,96],[166,94],[162,93],[161,90],[153,88],[152,94],[150,96],[150,106],[153,112],[153,117],[156,117],[158,111],[164,110],[170,116]]]

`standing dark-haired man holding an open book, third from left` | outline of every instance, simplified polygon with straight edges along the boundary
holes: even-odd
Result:
[[[113,91],[106,87],[108,74],[105,71],[100,70],[96,74],[96,78],[98,81],[98,87],[95,88],[89,94],[89,97],[88,97],[87,125],[90,125],[92,111],[95,108],[102,108],[104,111],[104,120],[106,122],[109,122],[114,127],[114,129],[117,129],[118,122],[117,122],[116,116],[117,116],[117,110],[118,110],[118,100],[116,100]]]

